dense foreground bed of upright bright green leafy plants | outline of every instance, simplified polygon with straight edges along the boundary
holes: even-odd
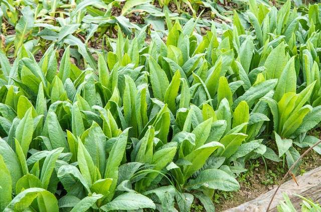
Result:
[[[39,62],[28,43],[13,64],[0,53],[2,209],[189,211],[198,198],[214,211],[249,159],[291,166],[294,144],[318,141],[321,21],[317,4],[290,7],[251,1],[250,30],[235,13],[220,37],[194,19],[167,21],[166,42],[119,27],[98,61],[80,42],[84,69],[70,46],[57,59],[59,42]]]

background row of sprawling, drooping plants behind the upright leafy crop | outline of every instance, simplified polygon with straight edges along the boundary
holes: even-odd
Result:
[[[113,35],[117,24],[127,35],[149,24],[163,36],[166,34],[165,19],[186,22],[200,15],[204,9],[210,12],[209,17],[216,15],[231,21],[231,18],[221,15],[227,12],[231,16],[231,11],[226,11],[218,3],[175,2],[175,11],[172,12],[169,0],[1,0],[1,47],[10,53],[10,57],[16,57],[23,44],[32,53],[44,52],[51,42],[60,47],[67,44],[74,46],[71,54],[75,58],[82,55],[93,65],[93,58],[87,51],[104,48],[106,33]],[[200,18],[198,30],[200,26],[210,26],[210,20]]]

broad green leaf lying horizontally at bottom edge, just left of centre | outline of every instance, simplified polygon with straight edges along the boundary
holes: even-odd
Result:
[[[148,197],[134,192],[120,194],[112,201],[100,207],[103,211],[110,210],[137,210],[140,208],[155,209],[154,202]]]

